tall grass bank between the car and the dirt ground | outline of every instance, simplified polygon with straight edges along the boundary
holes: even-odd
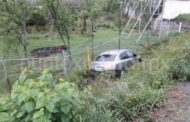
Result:
[[[163,104],[167,91],[175,82],[190,78],[189,42],[190,35],[176,34],[170,40],[143,50],[143,62],[121,79],[110,80],[107,87],[102,86],[102,82],[109,79],[98,79],[94,92],[104,99],[115,120],[134,121],[141,117],[144,121],[152,121],[150,113]],[[123,86],[123,83],[127,87],[115,88],[116,84]],[[104,89],[102,96],[101,89]]]

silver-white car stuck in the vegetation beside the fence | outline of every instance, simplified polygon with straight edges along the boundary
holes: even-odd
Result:
[[[98,55],[92,62],[90,74],[92,77],[95,77],[100,73],[108,72],[113,77],[121,77],[122,71],[141,61],[141,57],[131,50],[106,51]]]

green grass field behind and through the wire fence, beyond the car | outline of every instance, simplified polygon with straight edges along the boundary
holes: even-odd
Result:
[[[117,49],[118,48],[118,39],[113,40],[109,42],[109,40],[112,40],[114,37],[117,37],[118,32],[115,30],[98,30],[96,35],[95,35],[95,48],[94,48],[94,57],[96,57],[99,53],[106,51],[106,50],[111,50],[111,49]],[[58,36],[58,35],[56,35]],[[55,37],[56,37],[55,36]],[[128,48],[131,50],[136,50],[139,48],[136,44],[136,40],[138,38],[139,34],[133,33],[131,36],[126,39],[124,38],[121,42],[121,48]],[[51,46],[58,46],[61,45],[62,42],[61,40],[56,37],[54,40],[48,40],[45,38],[45,34],[43,33],[34,33],[30,34],[28,36],[30,44],[30,50],[34,48],[41,48],[41,47],[51,47]],[[81,71],[86,69],[86,47],[76,47],[77,45],[90,45],[91,42],[89,38],[85,36],[79,36],[77,34],[73,34],[71,36],[71,45],[72,45],[72,60],[73,62],[67,62],[67,66],[73,66],[74,68],[70,69],[69,72],[70,74],[75,73],[76,71]],[[104,44],[105,41],[108,41],[108,43]],[[141,40],[143,44],[147,46],[147,40],[144,38]],[[97,42],[97,43],[96,43]],[[100,43],[102,42],[102,43]],[[98,45],[97,45],[98,44]],[[77,54],[76,54],[77,53]],[[68,58],[67,58],[68,59]],[[49,65],[49,62],[51,65]],[[19,76],[19,73],[21,70],[23,70],[23,64],[24,61],[9,61],[6,62],[7,70],[9,71],[9,76],[12,80],[15,80],[17,76]],[[52,67],[53,65],[53,67]],[[80,67],[79,67],[80,66]],[[29,68],[32,69],[35,72],[42,72],[43,69],[48,68],[51,70],[51,73],[53,73],[56,77],[63,76],[64,73],[64,64],[62,63],[62,57],[58,56],[55,60],[29,60]],[[0,66],[0,69],[3,71],[3,67]],[[3,77],[3,73],[0,75]],[[70,76],[70,75],[69,75]],[[3,80],[2,80],[3,82]]]

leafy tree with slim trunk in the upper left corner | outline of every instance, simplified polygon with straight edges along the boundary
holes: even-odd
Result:
[[[27,30],[26,22],[31,15],[31,7],[28,5],[27,0],[9,1],[1,0],[1,4],[4,6],[1,14],[11,24],[8,24],[6,28],[7,32],[10,31],[16,34],[19,44],[23,48],[24,57],[28,57],[28,43],[27,43]],[[14,30],[12,30],[14,27]],[[25,66],[28,66],[27,61]]]

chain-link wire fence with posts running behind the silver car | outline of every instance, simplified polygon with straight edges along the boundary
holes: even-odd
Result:
[[[137,29],[137,25],[140,22],[137,19],[133,29],[130,29],[129,32],[127,30],[128,25],[131,25],[130,21],[132,21],[132,19],[129,19],[120,37],[112,40],[96,41],[94,43],[88,41],[88,43],[74,46],[71,48],[70,55],[66,52],[64,53],[63,47],[60,46],[59,48],[44,48],[41,51],[36,51],[34,54],[37,55],[31,55],[31,52],[29,52],[30,58],[17,57],[17,59],[11,59],[8,57],[7,59],[0,60],[0,86],[2,87],[0,89],[7,88],[11,84],[9,81],[14,82],[18,79],[19,74],[25,67],[33,71],[31,77],[39,76],[44,69],[49,69],[55,78],[59,78],[60,76],[67,77],[76,72],[85,72],[87,69],[88,48],[90,48],[90,54],[88,55],[91,55],[92,58],[107,50],[118,48],[137,50],[141,47],[147,47],[166,40],[171,34],[178,32],[178,25],[174,26],[170,22],[160,21],[158,28],[155,30],[147,29],[151,25],[150,23],[153,23],[154,19],[152,17],[160,4],[161,2],[155,7],[148,23],[144,27],[141,27],[144,28],[143,30],[139,31]]]

